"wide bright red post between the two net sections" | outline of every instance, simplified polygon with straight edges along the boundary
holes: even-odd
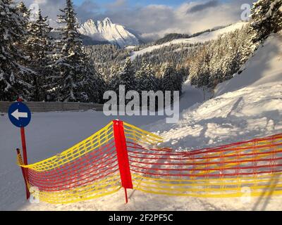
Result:
[[[113,124],[116,154],[118,157],[118,168],[121,174],[121,186],[123,186],[125,191],[125,202],[128,203],[128,195],[126,189],[133,189],[128,160],[128,148],[126,146],[123,122],[120,120],[114,120]]]

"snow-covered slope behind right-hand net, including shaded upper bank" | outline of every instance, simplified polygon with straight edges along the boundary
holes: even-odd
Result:
[[[188,108],[177,124],[164,121],[164,145],[204,148],[282,132],[282,41],[273,34],[250,58],[245,70],[217,86],[215,98]]]

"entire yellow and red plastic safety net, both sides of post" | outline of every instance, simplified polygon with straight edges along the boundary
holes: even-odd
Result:
[[[282,194],[282,134],[177,152],[158,148],[161,137],[125,122],[123,131],[133,189],[208,198]],[[111,122],[47,160],[23,165],[18,155],[32,195],[47,203],[75,203],[116,193],[123,182],[115,135]]]

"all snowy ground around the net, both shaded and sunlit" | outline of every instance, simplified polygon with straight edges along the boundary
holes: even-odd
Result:
[[[281,34],[280,34],[281,35]],[[180,121],[165,124],[163,117],[123,117],[128,123],[164,137],[165,146],[189,150],[282,133],[282,46],[273,35],[247,63],[246,70],[217,87],[215,98],[201,103],[202,91],[185,84]],[[27,127],[30,162],[48,158],[85,139],[113,118],[102,113],[35,113]],[[158,121],[157,121],[158,120]],[[130,191],[124,204],[123,190],[104,198],[69,205],[30,204],[15,149],[19,131],[0,117],[0,210],[280,210],[282,197],[183,198]]]

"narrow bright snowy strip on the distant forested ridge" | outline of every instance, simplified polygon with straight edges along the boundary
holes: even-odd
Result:
[[[235,23],[233,25],[230,25],[228,27],[221,28],[219,30],[215,30],[215,31],[212,31],[212,32],[205,32],[203,34],[200,34],[197,37],[184,38],[184,39],[174,39],[174,40],[168,41],[164,44],[149,46],[145,49],[141,49],[140,51],[133,51],[131,53],[130,58],[131,58],[131,60],[134,60],[137,56],[142,56],[145,53],[154,51],[156,49],[161,49],[164,46],[170,46],[171,44],[196,44],[196,43],[200,43],[200,42],[210,41],[210,40],[216,39],[221,34],[225,34],[227,32],[232,32],[236,29],[240,29],[245,24],[246,24],[245,22],[239,22],[239,23]]]

